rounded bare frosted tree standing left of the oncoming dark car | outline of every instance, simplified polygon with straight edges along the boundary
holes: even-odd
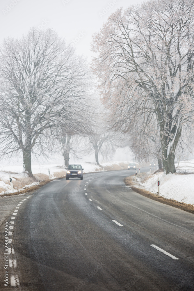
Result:
[[[22,151],[24,171],[32,176],[31,153],[44,154],[61,121],[79,110],[86,63],[51,29],[8,38],[0,51],[1,155]]]

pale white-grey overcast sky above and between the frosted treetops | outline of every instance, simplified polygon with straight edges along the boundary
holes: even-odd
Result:
[[[99,31],[117,8],[141,3],[141,0],[1,0],[1,36],[21,37],[30,27],[51,27],[77,52],[89,57],[91,35]]]

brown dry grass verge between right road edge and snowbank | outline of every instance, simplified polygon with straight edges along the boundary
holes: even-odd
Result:
[[[126,177],[124,178],[124,183],[126,184],[126,186],[129,186],[133,191],[137,192],[138,194],[141,194],[147,198],[150,198],[152,200],[156,200],[159,201],[163,204],[167,204],[176,208],[179,208],[181,210],[190,212],[194,214],[194,206],[192,204],[186,204],[184,202],[179,202],[177,200],[174,199],[168,199],[168,198],[164,198],[162,196],[159,196],[157,194],[153,194],[149,191],[146,191],[144,189],[140,189],[135,187],[135,183],[133,181],[134,176],[130,176],[130,177]]]

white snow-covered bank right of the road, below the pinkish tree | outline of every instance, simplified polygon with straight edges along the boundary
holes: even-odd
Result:
[[[152,174],[145,182],[137,178],[136,187],[157,193],[157,182],[160,179],[161,196],[194,205],[194,160],[180,162],[176,171],[168,175],[163,172]]]

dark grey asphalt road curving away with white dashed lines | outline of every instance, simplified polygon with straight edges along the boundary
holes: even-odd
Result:
[[[193,291],[193,214],[132,191],[129,173],[54,180],[21,196],[9,218],[9,290]]]

